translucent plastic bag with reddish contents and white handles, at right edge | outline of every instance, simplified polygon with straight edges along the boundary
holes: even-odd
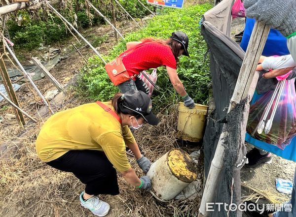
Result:
[[[257,132],[257,126],[262,119],[262,114],[271,100],[273,91],[266,92],[256,103],[250,107],[247,124],[247,132],[252,137],[275,145],[284,150],[296,135],[296,93],[295,79],[284,81],[284,89],[276,109],[272,127],[268,134],[264,130],[261,134]],[[275,109],[273,102],[266,120],[269,120],[271,111]]]

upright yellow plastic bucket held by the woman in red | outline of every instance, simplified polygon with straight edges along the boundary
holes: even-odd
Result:
[[[208,106],[195,104],[193,109],[188,109],[183,102],[179,102],[178,111],[178,137],[190,142],[200,142],[203,138]]]

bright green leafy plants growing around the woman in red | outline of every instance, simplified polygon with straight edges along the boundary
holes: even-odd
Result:
[[[163,15],[153,18],[146,28],[125,36],[126,41],[139,41],[151,36],[168,38],[173,31],[184,31],[189,37],[190,58],[181,56],[177,70],[187,93],[195,102],[203,104],[207,103],[211,80],[209,61],[204,60],[207,46],[200,35],[198,23],[202,14],[210,8],[210,4],[194,5],[184,9],[166,8],[163,10]],[[125,50],[126,41],[120,41],[104,59],[106,61],[115,59]],[[104,64],[98,57],[89,59],[88,64],[82,69],[79,84],[79,92],[94,100],[109,100],[118,92],[118,88],[112,85]],[[173,89],[164,67],[158,68],[157,85],[161,90],[153,92],[153,99],[159,107],[181,100]]]

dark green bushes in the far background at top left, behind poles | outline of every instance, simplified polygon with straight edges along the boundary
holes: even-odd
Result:
[[[142,1],[145,2],[145,0]],[[119,2],[134,18],[141,18],[149,13],[137,0],[119,0]],[[70,0],[66,1],[65,4],[63,9],[55,7],[70,23],[74,23],[74,14],[76,14],[78,30],[92,25],[105,24],[105,20],[93,8],[86,8],[84,0]],[[111,19],[111,0],[95,1],[93,5]],[[153,6],[148,7],[153,9]],[[117,4],[115,4],[115,13],[117,20],[128,19],[125,12]],[[35,12],[19,10],[16,13],[16,19],[19,16],[22,17],[21,26],[18,26],[14,18],[7,22],[8,30],[16,48],[32,50],[40,44],[48,45],[71,36],[65,24],[54,13],[43,9]]]

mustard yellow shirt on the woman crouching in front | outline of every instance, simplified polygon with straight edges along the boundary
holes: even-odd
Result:
[[[113,109],[111,102],[104,104]],[[109,112],[97,103],[89,103],[50,117],[41,127],[36,151],[42,161],[49,162],[70,150],[99,150],[118,171],[126,171],[130,164],[125,143],[134,142],[127,125],[121,127]]]

